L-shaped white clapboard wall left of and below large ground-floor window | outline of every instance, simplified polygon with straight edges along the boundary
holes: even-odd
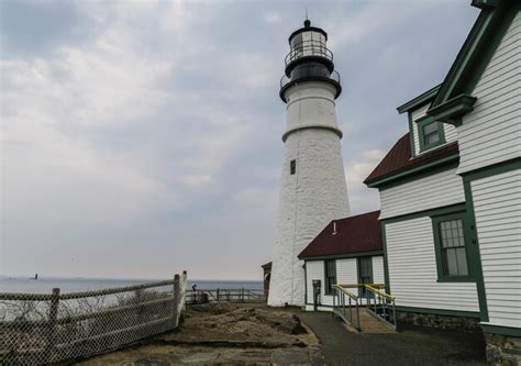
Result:
[[[397,306],[479,311],[476,284],[437,282],[429,217],[388,223],[385,231],[390,289]]]

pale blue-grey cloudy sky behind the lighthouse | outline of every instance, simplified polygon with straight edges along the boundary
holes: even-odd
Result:
[[[262,279],[287,38],[308,8],[342,76],[352,213],[443,81],[468,1],[0,1],[0,275]]]

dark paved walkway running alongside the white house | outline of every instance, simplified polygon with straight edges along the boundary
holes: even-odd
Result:
[[[355,334],[329,312],[297,311],[328,365],[487,365],[481,335],[446,331]]]

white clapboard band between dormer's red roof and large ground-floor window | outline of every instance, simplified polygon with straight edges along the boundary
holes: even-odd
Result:
[[[380,220],[465,202],[462,177],[448,169],[400,186],[380,189]]]

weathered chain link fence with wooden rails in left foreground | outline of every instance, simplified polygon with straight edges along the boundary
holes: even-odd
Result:
[[[0,293],[0,365],[71,362],[177,328],[187,275],[98,291]]]

